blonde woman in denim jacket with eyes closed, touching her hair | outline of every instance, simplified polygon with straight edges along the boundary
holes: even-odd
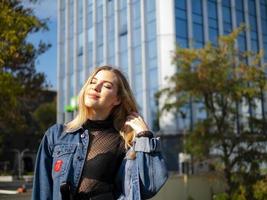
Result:
[[[40,144],[32,199],[140,200],[167,179],[153,138],[123,74],[98,67],[79,93],[78,114]]]

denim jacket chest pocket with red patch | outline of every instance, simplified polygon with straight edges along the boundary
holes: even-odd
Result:
[[[64,175],[69,171],[70,164],[73,160],[76,144],[58,144],[53,149],[53,168],[52,177]]]

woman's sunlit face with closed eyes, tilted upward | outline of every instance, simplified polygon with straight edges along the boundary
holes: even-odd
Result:
[[[84,103],[95,111],[110,112],[120,104],[118,93],[118,79],[108,70],[100,70],[87,85]]]

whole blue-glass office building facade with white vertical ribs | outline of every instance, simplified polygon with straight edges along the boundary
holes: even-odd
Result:
[[[92,69],[111,64],[127,76],[154,131],[171,137],[182,133],[205,112],[193,104],[185,108],[186,119],[166,114],[158,120],[154,94],[175,72],[171,52],[177,43],[185,48],[216,44],[219,35],[241,23],[249,29],[238,37],[238,48],[267,51],[267,0],[58,0],[57,121],[73,118],[68,106]],[[266,103],[259,103],[253,114],[265,111]]]

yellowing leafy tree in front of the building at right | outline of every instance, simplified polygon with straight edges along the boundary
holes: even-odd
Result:
[[[253,185],[261,180],[261,164],[266,163],[266,117],[258,112],[266,91],[262,52],[241,52],[235,44],[240,27],[201,49],[183,49],[173,54],[176,73],[168,78],[169,88],[162,111],[184,115],[185,106],[195,104],[206,113],[188,130],[186,149],[195,159],[211,159],[227,183],[227,198],[254,199]],[[216,158],[216,159],[215,159]]]

